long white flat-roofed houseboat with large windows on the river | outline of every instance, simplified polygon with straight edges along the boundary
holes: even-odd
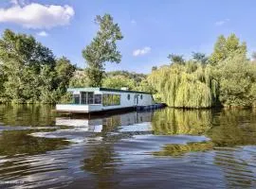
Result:
[[[152,94],[108,88],[70,88],[72,104],[57,104],[57,112],[102,112],[118,109],[136,109],[155,105]]]

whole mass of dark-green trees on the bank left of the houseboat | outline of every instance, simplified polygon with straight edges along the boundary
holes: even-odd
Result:
[[[54,103],[65,93],[74,66],[55,60],[32,36],[5,30],[0,40],[1,101]]]

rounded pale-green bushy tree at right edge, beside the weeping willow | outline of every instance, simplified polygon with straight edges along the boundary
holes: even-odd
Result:
[[[220,83],[220,102],[227,107],[251,107],[256,99],[256,65],[239,53],[218,62],[213,68]]]

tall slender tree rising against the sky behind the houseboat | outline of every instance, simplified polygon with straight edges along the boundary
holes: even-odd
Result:
[[[87,64],[85,72],[89,78],[89,85],[99,87],[104,74],[104,63],[119,63],[121,60],[117,42],[123,37],[119,25],[114,23],[110,14],[98,15],[95,22],[100,29],[93,41],[82,50],[82,56]]]

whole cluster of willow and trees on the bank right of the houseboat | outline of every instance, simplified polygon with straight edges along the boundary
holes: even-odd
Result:
[[[231,34],[221,35],[209,60],[193,53],[192,60],[170,55],[148,81],[162,102],[176,108],[256,106],[256,64],[247,60],[247,45]],[[206,64],[210,61],[210,64]]]

